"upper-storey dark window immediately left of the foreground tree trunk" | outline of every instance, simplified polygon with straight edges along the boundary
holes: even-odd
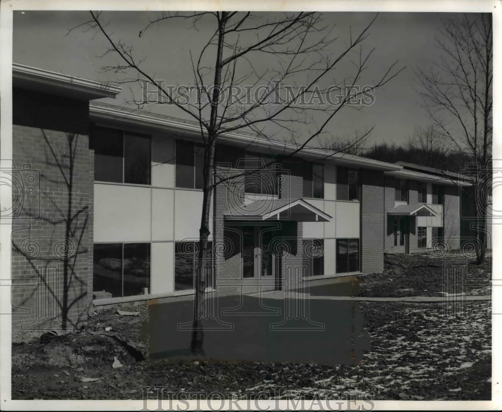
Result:
[[[204,146],[176,140],[176,187],[204,188]]]

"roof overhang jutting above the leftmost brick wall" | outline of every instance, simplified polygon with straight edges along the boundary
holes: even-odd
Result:
[[[18,63],[12,65],[12,85],[21,89],[71,97],[77,100],[114,98],[121,91],[120,87],[111,84]]]

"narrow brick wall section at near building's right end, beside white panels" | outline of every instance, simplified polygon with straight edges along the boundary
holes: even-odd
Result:
[[[384,173],[361,170],[360,253],[363,273],[384,271]]]

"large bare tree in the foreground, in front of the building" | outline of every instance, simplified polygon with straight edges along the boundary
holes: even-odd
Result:
[[[153,74],[143,69],[143,60],[133,53],[133,48],[112,38],[102,14],[90,14],[91,20],[80,27],[104,35],[109,43],[105,54],[112,53],[119,58],[119,63],[103,68],[117,73],[135,73],[134,78],[125,81],[142,81],[157,87]],[[361,46],[376,16],[359,33],[349,33],[348,41],[340,45],[320,13],[270,16],[251,12],[162,13],[139,34],[145,37],[153,26],[164,24],[166,38],[169,38],[170,22],[175,19],[190,22],[191,29],[198,30],[201,25],[211,30],[198,54],[189,51],[193,76],[190,89],[196,91],[195,101],[187,102],[180,99],[176,91],[159,88],[165,102],[176,106],[200,125],[204,184],[199,261],[207,260],[210,253],[211,194],[216,185],[229,179],[225,176],[212,179],[216,171],[215,148],[220,136],[243,130],[261,138],[269,139],[274,135],[275,140],[282,138],[296,144],[295,150],[289,153],[285,150],[282,156],[274,159],[280,162],[320,136],[343,107],[360,105],[364,97],[403,70],[397,69],[397,62],[394,62],[377,80],[368,81],[369,84],[362,87],[362,74],[374,49],[363,52]],[[173,33],[173,36],[179,35]],[[339,72],[335,73],[335,68],[342,64],[350,67],[350,74],[337,79],[335,74]],[[234,99],[235,90],[240,91],[237,99]],[[206,280],[201,272],[195,274],[193,354],[203,353]]]

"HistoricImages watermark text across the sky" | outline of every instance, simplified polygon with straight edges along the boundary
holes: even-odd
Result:
[[[227,106],[370,106],[375,102],[372,85],[330,85],[324,88],[285,85],[271,81],[264,85],[199,86],[170,85],[165,80],[140,80],[142,104],[176,104],[181,106],[225,104]],[[214,100],[216,98],[216,100]]]

